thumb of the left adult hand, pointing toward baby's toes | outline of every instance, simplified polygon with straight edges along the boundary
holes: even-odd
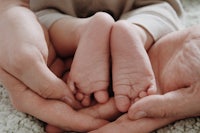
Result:
[[[20,76],[20,80],[43,98],[58,99],[74,108],[80,107],[67,84],[45,63],[37,63],[29,67],[29,70]]]

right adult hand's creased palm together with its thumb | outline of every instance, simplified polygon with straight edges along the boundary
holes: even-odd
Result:
[[[164,95],[145,97],[129,110],[131,119],[182,119],[199,116],[200,26],[171,33],[158,41],[149,55]]]

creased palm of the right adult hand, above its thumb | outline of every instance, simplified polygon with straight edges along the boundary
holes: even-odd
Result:
[[[190,33],[170,34],[149,51],[158,87],[163,93],[190,87],[200,77],[200,38]]]

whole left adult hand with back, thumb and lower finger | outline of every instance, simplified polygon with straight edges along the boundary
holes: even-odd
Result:
[[[18,1],[1,1],[0,5],[0,82],[13,105],[65,130],[89,131],[107,123],[61,101],[76,105],[64,81],[47,67],[56,71],[58,60],[41,25],[29,9],[19,6],[28,3]]]

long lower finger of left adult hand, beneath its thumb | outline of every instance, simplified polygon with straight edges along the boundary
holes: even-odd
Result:
[[[44,99],[14,78],[11,78],[10,83],[11,86],[6,87],[16,85],[14,89],[8,89],[14,107],[46,123],[66,131],[90,131],[107,123],[105,120],[76,112],[62,101]]]

